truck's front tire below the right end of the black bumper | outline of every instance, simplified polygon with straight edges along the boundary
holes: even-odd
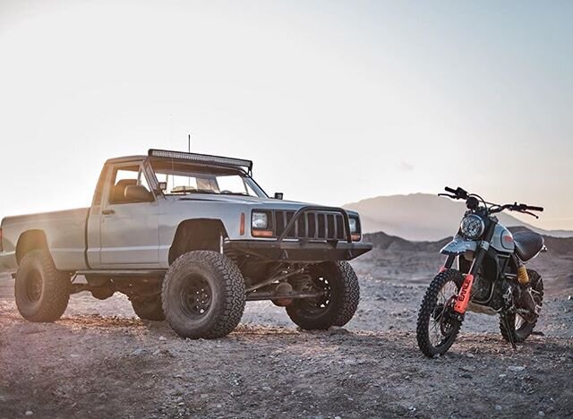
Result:
[[[354,269],[346,261],[324,262],[311,268],[314,291],[326,288],[325,298],[295,300],[286,313],[301,329],[326,330],[344,326],[355,315],[360,286]]]

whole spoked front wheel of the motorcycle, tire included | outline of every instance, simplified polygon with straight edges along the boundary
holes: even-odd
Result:
[[[464,278],[458,270],[449,269],[433,278],[423,297],[418,313],[416,338],[426,356],[445,354],[458,336],[461,322],[453,306]]]

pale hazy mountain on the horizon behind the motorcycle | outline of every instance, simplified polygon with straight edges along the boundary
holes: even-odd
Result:
[[[433,241],[456,233],[466,205],[437,195],[413,193],[379,196],[346,204],[344,208],[360,212],[365,233],[383,231],[407,240]],[[526,227],[555,237],[573,236],[572,231],[546,231],[533,227],[508,213],[500,213],[498,218],[506,227]]]

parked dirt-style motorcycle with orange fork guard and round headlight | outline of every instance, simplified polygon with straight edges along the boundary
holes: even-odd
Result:
[[[525,263],[546,252],[543,236],[532,231],[511,234],[495,214],[531,211],[542,207],[494,204],[462,188],[439,193],[465,200],[467,211],[458,234],[441,253],[446,261],[423,297],[416,339],[423,354],[445,354],[452,346],[467,311],[500,316],[501,336],[515,349],[531,335],[543,304],[543,279]],[[454,263],[458,266],[454,268]]]

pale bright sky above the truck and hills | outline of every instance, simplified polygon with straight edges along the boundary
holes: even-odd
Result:
[[[107,158],[191,133],[286,199],[460,185],[573,229],[571,21],[567,1],[0,0],[0,217],[88,206]]]

